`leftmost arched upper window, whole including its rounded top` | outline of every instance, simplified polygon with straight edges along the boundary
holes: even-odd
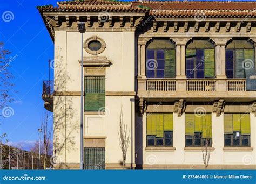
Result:
[[[147,46],[147,78],[176,77],[175,46],[171,41],[155,39]]]

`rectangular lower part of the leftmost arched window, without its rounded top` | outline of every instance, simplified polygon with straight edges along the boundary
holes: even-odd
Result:
[[[147,78],[175,78],[174,49],[147,49]]]

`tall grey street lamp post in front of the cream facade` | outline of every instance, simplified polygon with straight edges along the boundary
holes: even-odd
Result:
[[[84,33],[85,24],[79,22],[78,30],[81,33],[81,117],[80,117],[80,169],[84,169]]]

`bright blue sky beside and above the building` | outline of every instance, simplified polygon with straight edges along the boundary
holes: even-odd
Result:
[[[250,1],[250,0],[249,0]],[[43,107],[42,81],[48,80],[48,60],[53,59],[53,42],[36,6],[57,5],[56,0],[0,0],[0,41],[11,51],[11,72],[15,87],[15,101],[11,117],[3,118],[0,134],[7,133],[11,142],[32,144],[38,140]],[[3,13],[12,13],[11,20],[3,21]],[[51,69],[51,74],[53,70]],[[53,75],[51,75],[53,79]],[[0,112],[1,113],[1,112]]]

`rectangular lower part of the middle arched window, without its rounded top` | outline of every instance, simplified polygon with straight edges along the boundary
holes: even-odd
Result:
[[[214,49],[186,49],[186,75],[188,78],[214,78]]]

